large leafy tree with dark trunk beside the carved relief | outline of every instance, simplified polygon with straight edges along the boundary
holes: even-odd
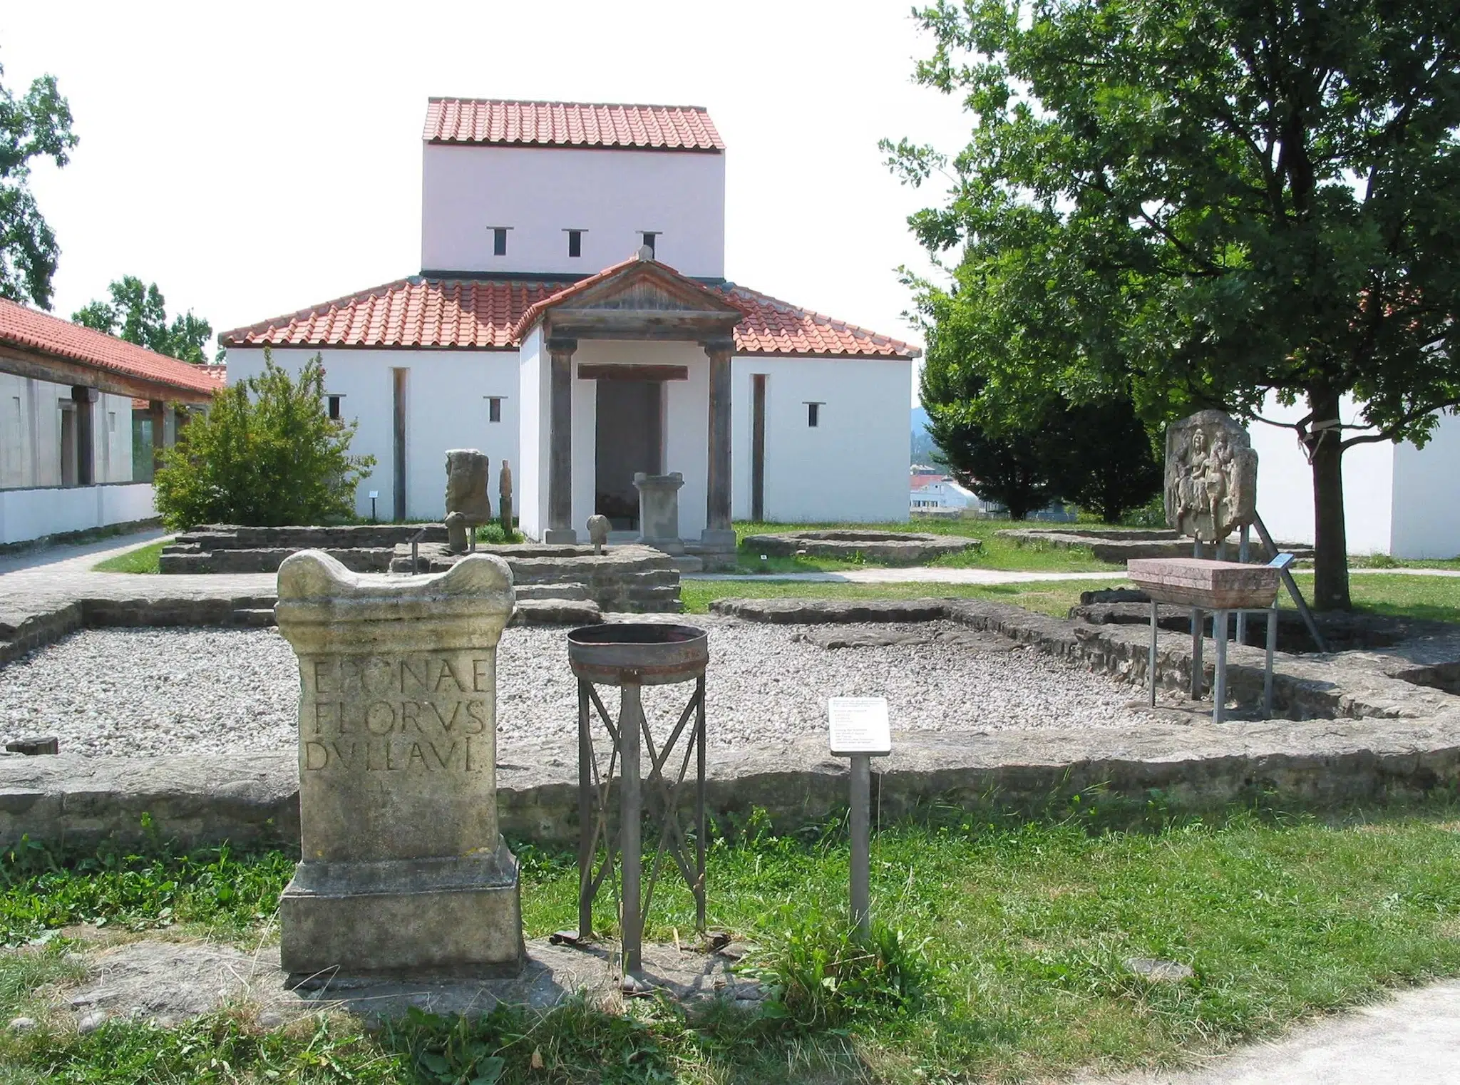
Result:
[[[1460,31],[1437,0],[939,0],[917,77],[974,117],[902,142],[912,216],[959,248],[972,407],[1129,388],[1149,423],[1301,403],[1315,605],[1348,607],[1343,453],[1460,405]],[[1340,422],[1340,399],[1359,403]]]

